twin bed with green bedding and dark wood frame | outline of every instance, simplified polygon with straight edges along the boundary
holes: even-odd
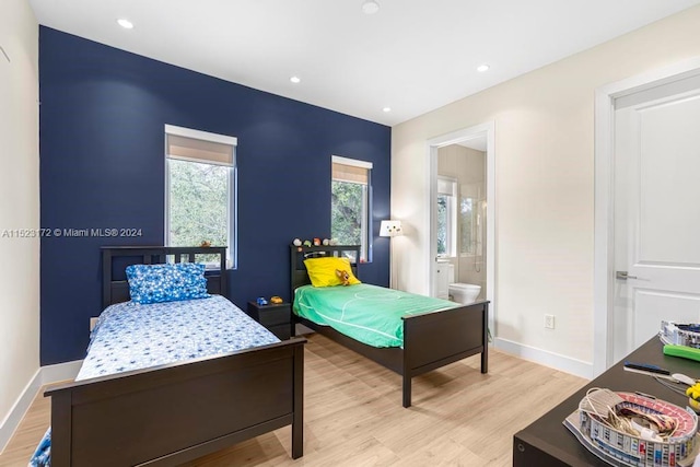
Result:
[[[460,305],[364,283],[311,285],[304,260],[359,258],[359,246],[291,247],[299,323],[400,374],[404,407],[411,405],[413,376],[478,353],[487,373],[488,302]]]

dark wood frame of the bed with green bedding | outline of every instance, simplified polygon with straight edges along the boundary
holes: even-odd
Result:
[[[304,266],[305,258],[343,255],[359,258],[360,246],[292,246],[290,261],[292,265],[292,301],[298,287],[311,283]],[[357,262],[352,264],[352,269],[358,276]],[[330,326],[319,326],[295,314],[293,316],[298,323],[401,375],[404,407],[411,406],[411,378],[413,376],[477,353],[481,353],[481,373],[488,372],[489,302],[404,316],[402,349],[366,346],[338,332]]]

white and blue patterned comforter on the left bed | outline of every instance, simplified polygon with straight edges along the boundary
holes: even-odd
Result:
[[[100,315],[75,381],[279,341],[220,295],[149,305],[118,303]],[[50,466],[50,429],[30,466]]]

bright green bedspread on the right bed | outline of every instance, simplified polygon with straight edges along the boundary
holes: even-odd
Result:
[[[365,283],[349,287],[303,285],[294,294],[294,313],[330,326],[373,347],[402,347],[401,316],[453,308],[457,303]]]

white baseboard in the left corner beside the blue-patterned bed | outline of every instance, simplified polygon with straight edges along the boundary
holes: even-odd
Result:
[[[18,397],[16,402],[8,416],[0,423],[0,453],[2,453],[20,425],[24,415],[28,410],[32,401],[36,397],[42,386],[61,381],[74,380],[78,376],[82,360],[73,362],[59,363],[56,365],[42,366],[36,371],[32,380],[24,387],[24,390]]]

